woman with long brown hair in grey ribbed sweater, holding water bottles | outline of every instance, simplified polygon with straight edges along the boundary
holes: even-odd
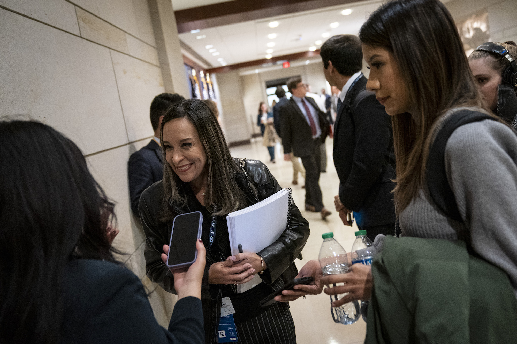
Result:
[[[464,241],[469,252],[503,270],[517,294],[517,135],[485,105],[449,11],[438,0],[394,0],[371,14],[359,38],[370,68],[367,88],[392,116],[402,236]],[[442,162],[460,215],[454,220],[430,196],[427,161],[440,129],[461,113],[488,119],[457,128],[446,142]],[[375,238],[378,249],[383,238]],[[317,265],[311,261],[302,275],[311,266]],[[345,283],[325,289],[349,293],[334,306],[369,300],[371,266],[350,270],[322,277],[319,290],[300,289],[317,293]],[[284,292],[283,300],[301,294]]]

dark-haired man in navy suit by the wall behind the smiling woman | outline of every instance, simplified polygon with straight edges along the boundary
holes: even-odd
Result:
[[[160,124],[167,109],[185,100],[177,93],[161,93],[153,99],[150,108],[151,125],[155,136],[147,146],[134,152],[129,157],[129,196],[131,199],[131,210],[133,214],[140,217],[138,213],[138,202],[140,195],[150,185],[163,179],[163,162],[160,148]]]

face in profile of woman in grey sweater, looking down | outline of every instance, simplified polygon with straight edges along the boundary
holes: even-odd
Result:
[[[362,44],[362,54],[370,69],[366,88],[384,105],[388,115],[410,112],[409,95],[393,53],[385,48]]]

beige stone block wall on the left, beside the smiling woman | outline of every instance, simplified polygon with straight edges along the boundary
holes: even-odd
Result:
[[[129,156],[153,136],[150,102],[165,91],[147,0],[0,6],[0,117],[42,121],[77,143],[116,202],[120,233],[113,245],[126,253],[119,259],[142,280],[157,320],[168,326],[176,299],[145,276],[144,234],[131,213],[127,176]],[[183,71],[181,55],[168,59]],[[186,77],[184,85],[176,79],[175,87],[187,89]]]

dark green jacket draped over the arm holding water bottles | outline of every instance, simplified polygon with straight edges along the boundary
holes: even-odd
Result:
[[[372,274],[365,344],[517,343],[508,276],[463,241],[386,237]]]

